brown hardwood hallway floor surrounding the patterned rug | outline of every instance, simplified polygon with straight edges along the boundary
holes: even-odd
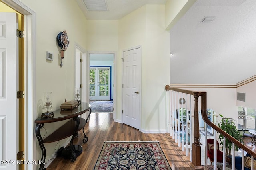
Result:
[[[88,142],[83,143],[82,130],[74,144],[82,145],[83,152],[76,161],[57,157],[47,170],[93,170],[104,141],[159,141],[172,170],[192,170],[189,156],[185,156],[168,133],[145,134],[138,129],[113,121],[112,113],[92,113],[84,129]]]

